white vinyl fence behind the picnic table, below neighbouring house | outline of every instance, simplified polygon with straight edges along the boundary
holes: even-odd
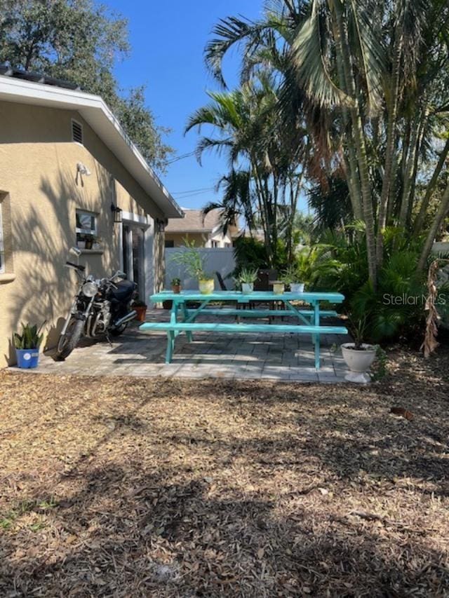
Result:
[[[215,290],[220,290],[215,272],[220,272],[228,290],[234,289],[234,279],[227,278],[236,267],[234,249],[232,247],[199,247],[199,252],[206,258],[205,271],[212,275],[215,280]],[[198,289],[198,280],[185,272],[184,266],[173,261],[173,256],[185,251],[182,247],[166,247],[166,284],[165,288],[171,288],[172,278],[180,278],[182,288],[185,290]]]

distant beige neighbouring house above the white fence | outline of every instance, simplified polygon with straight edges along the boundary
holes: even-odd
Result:
[[[239,234],[237,226],[229,226],[223,234],[220,226],[220,210],[210,210],[203,215],[202,210],[182,208],[185,217],[169,219],[166,226],[166,247],[181,247],[184,239],[194,241],[196,247],[232,247]]]

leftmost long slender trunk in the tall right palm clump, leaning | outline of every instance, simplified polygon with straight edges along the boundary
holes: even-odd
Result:
[[[349,95],[354,104],[349,107],[351,115],[352,134],[356,147],[356,156],[358,163],[358,173],[361,182],[363,220],[365,222],[366,249],[368,252],[368,273],[370,281],[374,288],[377,287],[377,261],[376,261],[376,239],[375,239],[375,219],[373,211],[373,197],[371,194],[370,178],[368,175],[368,158],[366,155],[366,144],[363,132],[363,123],[361,119],[360,106],[358,104],[358,95],[356,83],[354,81],[354,71],[351,64],[351,54],[349,51],[349,38],[347,30],[347,18],[342,17],[341,6],[339,2],[335,3],[337,10],[338,25],[340,27],[342,39],[342,65],[344,70],[344,79],[346,81]],[[337,50],[338,51],[338,50]]]

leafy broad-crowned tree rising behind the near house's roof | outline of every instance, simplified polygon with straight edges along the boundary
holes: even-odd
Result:
[[[0,62],[72,81],[101,95],[142,155],[163,170],[173,151],[145,106],[144,88],[119,93],[113,67],[130,50],[127,22],[93,0],[0,0]]]

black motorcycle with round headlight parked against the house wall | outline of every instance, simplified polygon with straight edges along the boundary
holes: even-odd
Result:
[[[116,271],[110,278],[99,279],[86,276],[86,266],[78,263],[81,251],[72,247],[70,253],[76,255],[77,263],[66,261],[65,266],[76,272],[80,282],[58,341],[56,359],[61,361],[72,353],[83,335],[91,339],[105,335],[109,341],[109,334],[118,337],[136,314],[131,305],[137,285],[123,280],[125,273]]]

